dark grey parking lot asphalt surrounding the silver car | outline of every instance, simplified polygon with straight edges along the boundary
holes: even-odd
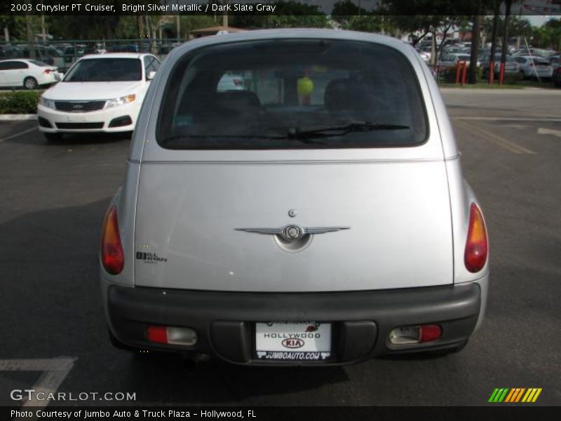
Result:
[[[539,387],[535,405],[561,405],[561,90],[443,95],[489,228],[485,323],[459,354],[342,368],[192,365],[111,347],[97,248],[130,142],[48,143],[34,121],[1,122],[0,405],[40,381],[45,362],[29,360],[58,357],[59,392],[134,392],[135,404],[472,406],[496,387]]]

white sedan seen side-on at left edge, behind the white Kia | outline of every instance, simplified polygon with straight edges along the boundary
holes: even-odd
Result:
[[[0,60],[2,88],[36,89],[58,82],[57,68],[39,60]]]

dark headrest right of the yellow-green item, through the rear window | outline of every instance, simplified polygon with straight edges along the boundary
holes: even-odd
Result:
[[[331,112],[372,112],[374,93],[369,83],[355,79],[334,79],[325,88],[325,108]]]

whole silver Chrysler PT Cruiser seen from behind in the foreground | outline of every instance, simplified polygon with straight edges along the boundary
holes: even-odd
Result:
[[[339,364],[457,351],[482,322],[485,221],[433,77],[396,39],[184,44],[127,168],[100,256],[119,347]]]

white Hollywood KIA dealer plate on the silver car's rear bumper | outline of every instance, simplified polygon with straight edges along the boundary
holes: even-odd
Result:
[[[262,360],[330,359],[331,323],[271,321],[255,323],[255,356]]]

